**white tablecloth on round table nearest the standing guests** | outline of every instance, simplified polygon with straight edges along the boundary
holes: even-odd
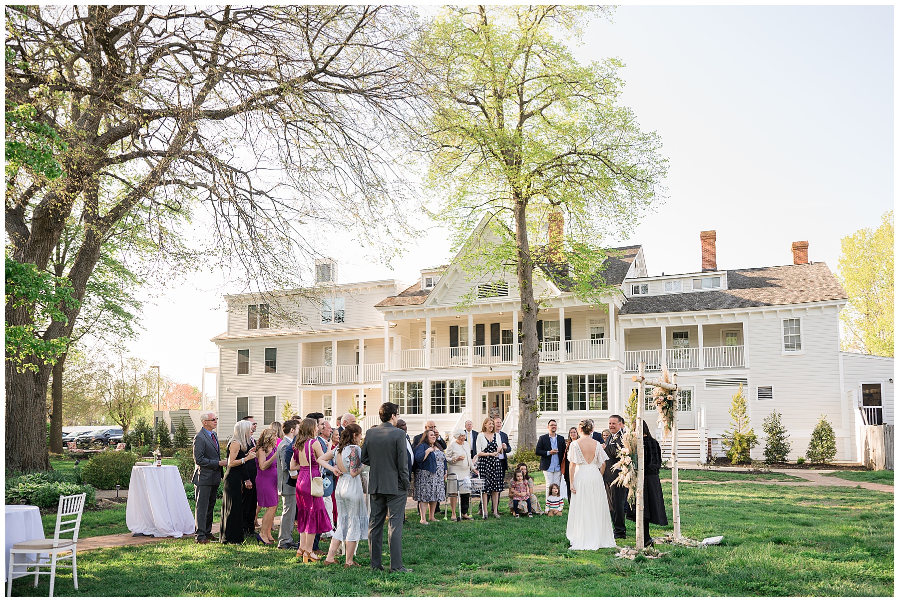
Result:
[[[135,466],[128,486],[125,523],[131,533],[181,537],[194,531],[177,466]]]

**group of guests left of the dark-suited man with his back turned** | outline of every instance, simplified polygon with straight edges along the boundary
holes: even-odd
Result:
[[[261,544],[275,544],[272,529],[280,499],[279,548],[295,549],[303,562],[316,562],[320,537],[330,536],[325,564],[334,564],[335,555],[345,553],[346,566],[360,566],[353,555],[359,541],[368,536],[369,510],[361,478],[362,429],[352,414],[344,415],[337,428],[320,412],[306,418],[293,416],[283,425],[271,423],[258,441],[256,421],[246,416],[234,427],[225,460],[220,459],[215,413],[203,412],[200,420],[203,428],[193,441],[196,467],[191,480],[198,544],[210,541],[216,490],[224,479],[221,543],[240,544],[254,535]],[[328,472],[336,481],[333,491],[329,496],[313,496],[313,479]],[[293,541],[294,525],[299,542]]]

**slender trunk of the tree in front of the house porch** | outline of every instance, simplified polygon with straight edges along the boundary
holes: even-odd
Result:
[[[518,247],[518,290],[521,294],[521,373],[518,387],[518,448],[537,446],[537,394],[540,352],[537,340],[537,302],[534,301],[534,266],[530,259],[526,205],[515,205],[515,241]],[[512,328],[518,328],[513,324]],[[470,335],[469,335],[470,336]]]

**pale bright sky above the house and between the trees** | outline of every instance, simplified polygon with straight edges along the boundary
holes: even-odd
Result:
[[[664,202],[606,242],[642,244],[650,274],[676,274],[699,270],[700,230],[717,230],[721,269],[790,264],[791,243],[808,240],[809,259],[836,272],[840,239],[893,208],[893,10],[626,5],[592,22],[575,55],[625,63],[621,102],[669,158]],[[345,236],[322,237],[322,255],[341,282],[411,283],[450,258],[446,232],[424,225],[393,270]],[[131,353],[200,386],[230,292],[214,272],[147,292]]]

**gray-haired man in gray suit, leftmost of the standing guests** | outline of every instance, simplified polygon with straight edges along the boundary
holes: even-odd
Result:
[[[200,414],[203,427],[193,437],[193,495],[196,502],[196,535],[198,544],[209,544],[212,535],[212,510],[216,507],[218,483],[222,480],[222,468],[227,464],[221,459],[215,428],[218,418],[215,412]]]

